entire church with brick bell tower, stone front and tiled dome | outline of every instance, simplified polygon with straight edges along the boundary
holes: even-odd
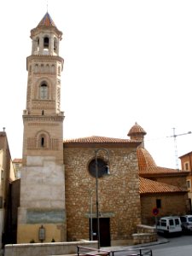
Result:
[[[16,242],[100,240],[101,247],[128,245],[138,224],[151,224],[154,204],[166,214],[167,193],[175,201],[179,195],[179,211],[185,213],[188,173],[182,173],[179,183],[176,170],[156,166],[144,148],[141,126],[134,125],[126,139],[63,139],[62,32],[46,13],[31,39]]]

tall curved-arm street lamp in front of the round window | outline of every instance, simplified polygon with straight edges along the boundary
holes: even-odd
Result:
[[[104,151],[108,155],[109,160],[109,152],[106,148],[98,148],[95,151],[96,158],[96,221],[97,221],[97,241],[98,241],[98,250],[100,249],[100,224],[99,224],[99,197],[98,197],[98,160],[97,154],[99,151]],[[102,166],[107,171],[105,174],[109,174],[109,166]]]

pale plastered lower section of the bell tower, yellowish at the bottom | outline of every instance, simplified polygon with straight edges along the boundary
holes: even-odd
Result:
[[[55,156],[27,156],[20,177],[17,242],[66,241],[64,166]]]

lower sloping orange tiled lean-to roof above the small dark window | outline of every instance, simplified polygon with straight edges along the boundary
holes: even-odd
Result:
[[[139,192],[140,194],[151,193],[175,193],[175,192],[187,192],[187,189],[183,189],[177,186],[172,186],[166,183],[159,183],[148,178],[139,177]]]

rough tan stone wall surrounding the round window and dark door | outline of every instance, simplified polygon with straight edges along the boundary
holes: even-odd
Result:
[[[65,148],[67,241],[90,239],[90,196],[96,218],[96,177],[88,171],[95,149]],[[136,148],[108,148],[110,175],[98,179],[100,218],[110,219],[111,245],[132,241],[141,223]],[[102,152],[101,157],[106,160]]]

